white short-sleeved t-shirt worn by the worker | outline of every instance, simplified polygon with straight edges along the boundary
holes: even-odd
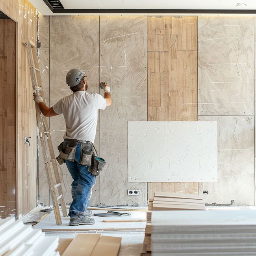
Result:
[[[57,114],[64,115],[64,139],[81,139],[94,143],[98,109],[106,108],[106,100],[101,95],[77,91],[59,100],[52,108]]]

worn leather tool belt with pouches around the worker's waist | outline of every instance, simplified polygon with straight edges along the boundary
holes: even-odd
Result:
[[[76,147],[81,144],[80,164],[89,166],[88,171],[98,176],[106,167],[106,161],[98,157],[98,153],[93,143],[90,141],[80,141],[77,139],[65,139],[59,146],[59,156],[56,160],[60,165],[65,163],[65,160],[74,162],[76,155]]]

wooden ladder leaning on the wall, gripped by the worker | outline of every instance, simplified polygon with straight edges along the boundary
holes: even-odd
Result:
[[[40,94],[43,97],[43,100],[45,102],[41,72],[39,70],[39,63],[37,58],[37,48],[30,39],[22,39],[22,43],[26,46],[26,49],[27,49],[33,92]],[[37,115],[37,124],[39,128],[39,136],[40,136],[40,141],[42,146],[43,158],[45,162],[45,171],[48,179],[48,184],[50,187],[50,194],[52,197],[52,204],[53,204],[56,224],[61,225],[61,215],[59,211],[58,200],[60,200],[63,217],[67,216],[67,209],[66,209],[65,200],[63,197],[61,181],[59,178],[58,166],[57,166],[55,155],[54,155],[54,148],[52,146],[52,138],[51,138],[50,130],[48,128],[46,117],[41,113],[39,105],[36,102],[35,102],[35,111]],[[52,169],[53,169],[53,172],[52,172]],[[54,180],[53,173],[55,176],[55,180]],[[58,195],[56,190],[57,188],[58,188]]]

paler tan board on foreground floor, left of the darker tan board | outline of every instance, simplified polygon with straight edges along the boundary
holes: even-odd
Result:
[[[77,234],[62,255],[91,256],[100,236],[100,234]]]

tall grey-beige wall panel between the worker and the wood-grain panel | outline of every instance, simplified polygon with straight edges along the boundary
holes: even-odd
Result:
[[[100,112],[100,154],[107,161],[100,203],[146,206],[147,184],[127,182],[127,122],[147,121],[147,17],[100,16],[100,42],[100,80],[110,84],[113,98]],[[127,189],[133,188],[139,195],[128,197]]]

